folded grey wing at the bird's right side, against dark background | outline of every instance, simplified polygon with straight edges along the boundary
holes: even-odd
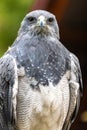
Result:
[[[70,53],[71,58],[71,71],[69,79],[69,90],[70,90],[70,102],[68,114],[63,126],[63,130],[69,130],[71,124],[76,118],[80,105],[80,96],[82,95],[82,74],[80,70],[80,64],[77,57]]]

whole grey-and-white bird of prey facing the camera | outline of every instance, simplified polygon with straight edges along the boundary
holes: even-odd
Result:
[[[82,94],[78,58],[52,13],[28,13],[0,59],[0,130],[69,130]]]

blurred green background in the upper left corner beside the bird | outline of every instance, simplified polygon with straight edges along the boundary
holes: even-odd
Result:
[[[21,20],[33,0],[0,0],[0,56],[17,36]]]

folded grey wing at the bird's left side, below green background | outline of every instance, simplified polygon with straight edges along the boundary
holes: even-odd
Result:
[[[0,59],[0,130],[13,128],[16,115],[17,65],[9,54]]]

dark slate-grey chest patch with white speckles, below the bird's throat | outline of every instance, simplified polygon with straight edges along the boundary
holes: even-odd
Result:
[[[57,84],[69,68],[69,52],[61,44],[57,45],[50,40],[31,39],[30,43],[26,42],[17,50],[18,64],[25,68],[29,77],[34,77],[44,85],[49,81]]]

